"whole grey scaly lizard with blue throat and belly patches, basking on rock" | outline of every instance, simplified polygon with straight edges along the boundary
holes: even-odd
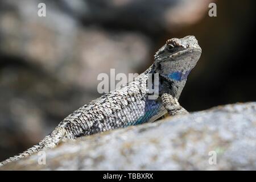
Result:
[[[164,114],[186,114],[178,99],[189,72],[201,56],[201,48],[195,36],[168,39],[155,53],[154,63],[133,81],[110,91],[75,110],[38,144],[0,163],[25,158],[38,151],[57,146],[60,142],[78,137],[146,122],[154,122]],[[150,76],[156,77],[158,95],[152,95],[148,85]],[[152,81],[152,79],[151,79]]]

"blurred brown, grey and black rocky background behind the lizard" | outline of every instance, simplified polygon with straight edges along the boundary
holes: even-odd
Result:
[[[1,0],[0,160],[100,96],[99,73],[141,73],[173,37],[203,48],[180,97],[187,110],[255,101],[254,14],[253,0]]]

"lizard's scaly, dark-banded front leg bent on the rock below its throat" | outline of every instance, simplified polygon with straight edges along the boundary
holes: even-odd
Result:
[[[185,110],[177,101],[177,99],[169,93],[162,94],[162,103],[164,108],[168,111],[170,115],[175,114],[187,114],[188,111]]]

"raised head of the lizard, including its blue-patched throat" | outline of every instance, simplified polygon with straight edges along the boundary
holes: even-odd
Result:
[[[155,71],[170,81],[187,80],[201,56],[195,36],[169,39],[155,55]]]

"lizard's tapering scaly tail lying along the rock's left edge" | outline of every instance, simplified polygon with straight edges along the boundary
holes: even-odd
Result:
[[[56,129],[53,130],[51,134],[47,135],[35,146],[28,148],[26,151],[1,162],[0,167],[6,163],[10,163],[15,160],[26,158],[27,156],[35,154],[38,151],[46,150],[47,148],[53,148],[58,143],[60,143],[60,141],[63,140],[66,135],[67,135],[67,130],[65,130],[63,127],[56,127]]]

